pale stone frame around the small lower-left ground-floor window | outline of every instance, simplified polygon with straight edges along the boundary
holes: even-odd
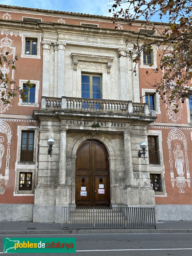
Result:
[[[32,188],[31,190],[19,190],[19,175],[20,172],[32,172]],[[36,186],[36,169],[16,169],[15,174],[15,191],[13,193],[14,196],[22,195],[22,196],[33,196],[34,190]]]

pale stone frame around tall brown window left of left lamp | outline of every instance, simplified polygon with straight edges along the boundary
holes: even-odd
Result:
[[[18,126],[17,128],[17,136],[18,136],[18,141],[17,141],[17,160],[16,160],[16,166],[25,165],[26,169],[35,168],[37,166],[37,137],[38,137],[38,129],[39,127],[36,126]],[[20,153],[21,153],[21,134],[22,131],[33,131],[34,132],[34,152],[33,152],[33,162],[28,162],[28,161],[20,161]]]

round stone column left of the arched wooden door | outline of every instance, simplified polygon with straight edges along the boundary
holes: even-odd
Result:
[[[58,185],[65,185],[66,179],[66,132],[67,130],[60,130],[60,147],[59,147],[59,174]]]

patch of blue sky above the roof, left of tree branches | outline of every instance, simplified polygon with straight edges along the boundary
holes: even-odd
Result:
[[[109,0],[0,0],[0,4],[111,16]]]

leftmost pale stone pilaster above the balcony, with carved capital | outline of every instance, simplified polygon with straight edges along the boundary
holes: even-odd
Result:
[[[49,96],[49,56],[51,42],[42,41],[43,45],[43,83],[42,96]]]

